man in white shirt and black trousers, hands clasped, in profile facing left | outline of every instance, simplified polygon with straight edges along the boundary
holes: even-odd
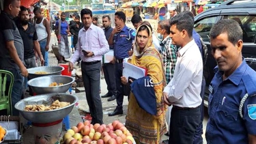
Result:
[[[201,118],[203,61],[193,39],[193,18],[182,12],[171,18],[170,24],[172,44],[180,49],[173,78],[163,93],[165,102],[173,105],[169,144],[193,144]]]

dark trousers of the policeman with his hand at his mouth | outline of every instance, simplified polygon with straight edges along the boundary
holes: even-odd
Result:
[[[123,109],[124,102],[124,88],[121,81],[121,76],[123,76],[123,63],[115,63],[115,83],[117,88],[117,108],[119,110]]]

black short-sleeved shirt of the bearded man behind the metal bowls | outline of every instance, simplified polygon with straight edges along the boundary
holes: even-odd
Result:
[[[24,44],[24,59],[29,59],[35,56],[33,41],[38,40],[38,35],[35,31],[35,27],[29,23],[27,29],[25,30],[20,22],[16,23],[20,36],[23,39]]]

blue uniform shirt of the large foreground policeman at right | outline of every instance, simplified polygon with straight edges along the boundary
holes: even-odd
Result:
[[[243,60],[227,79],[222,76],[223,72],[216,72],[209,86],[207,143],[248,144],[248,134],[256,134],[256,72]],[[240,101],[246,93],[249,97],[240,117]]]

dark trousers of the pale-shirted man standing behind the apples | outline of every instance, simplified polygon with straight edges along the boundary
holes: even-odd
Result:
[[[100,98],[100,69],[101,63],[81,63],[83,85],[89,111],[91,113],[91,124],[103,124],[102,102]]]

